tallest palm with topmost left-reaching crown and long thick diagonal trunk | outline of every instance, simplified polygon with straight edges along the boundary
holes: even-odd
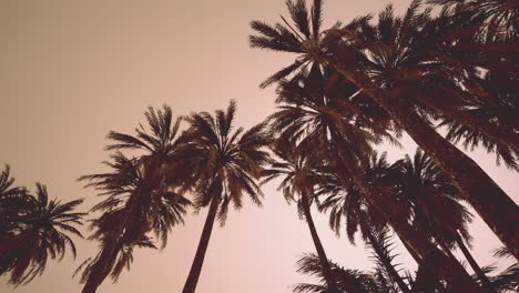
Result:
[[[309,27],[306,6],[303,0],[287,2],[293,21],[302,32]],[[316,9],[316,8],[319,9]],[[320,1],[314,1],[312,9],[312,26],[318,29],[320,23]],[[460,188],[467,200],[479,215],[487,222],[498,238],[519,257],[519,236],[513,226],[519,222],[518,206],[499,188],[492,179],[469,156],[444,139],[418,112],[406,92],[385,89],[363,70],[357,59],[366,50],[363,44],[356,44],[355,33],[348,28],[355,27],[358,19],[346,29],[333,28],[319,38],[314,31],[307,39],[298,37],[297,32],[282,24],[271,27],[264,22],[254,21],[252,27],[260,36],[251,37],[251,46],[274,51],[286,51],[299,54],[297,61],[276,73],[282,79],[307,65],[308,62],[329,64],[342,75],[352,81],[364,94],[377,104],[401,127],[415,142],[430,155],[438,165]],[[303,28],[303,29],[302,29]],[[349,36],[348,36],[349,34]],[[352,36],[353,34],[353,36]],[[305,34],[306,36],[306,34]]]

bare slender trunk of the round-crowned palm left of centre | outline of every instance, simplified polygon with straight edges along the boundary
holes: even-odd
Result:
[[[214,220],[216,219],[216,213],[218,211],[218,203],[220,201],[217,199],[211,200],[207,218],[205,219],[202,236],[200,238],[199,247],[196,249],[196,254],[193,260],[193,264],[191,265],[190,274],[187,275],[187,280],[185,281],[182,293],[195,292],[200,274],[202,273],[202,265],[204,264],[205,252],[207,251],[211,233],[213,232]]]

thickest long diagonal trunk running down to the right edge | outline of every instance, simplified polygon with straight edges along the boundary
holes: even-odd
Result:
[[[342,52],[343,53],[343,52]],[[346,52],[347,53],[347,52]],[[415,108],[400,95],[390,95],[373,84],[368,77],[353,63],[353,53],[346,60],[323,59],[345,78],[354,82],[411,137],[411,139],[446,172],[458,185],[464,198],[478,212],[496,235],[519,259],[519,209],[496,182],[468,155],[438,134],[420,118]]]

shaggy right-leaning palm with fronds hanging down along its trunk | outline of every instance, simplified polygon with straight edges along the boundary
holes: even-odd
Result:
[[[149,108],[145,117],[151,133],[142,125],[135,129],[135,137],[109,133],[114,143],[106,149],[118,150],[112,155],[114,162],[105,162],[113,172],[80,178],[90,181],[86,186],[94,186],[100,195],[109,196],[92,209],[104,212],[93,221],[95,232],[90,236],[101,242],[101,250],[78,269],[85,269],[81,279],[85,283],[83,293],[95,292],[110,273],[116,280],[123,264],[129,266],[134,246],[154,247],[149,232],[154,232],[164,247],[167,233],[172,226],[183,223],[190,204],[182,195],[181,182],[186,170],[177,156],[181,119],[173,121],[172,110],[166,105],[159,111]],[[129,159],[119,150],[138,150],[144,154]]]

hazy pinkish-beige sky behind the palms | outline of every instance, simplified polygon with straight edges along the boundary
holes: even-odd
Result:
[[[409,1],[393,1],[403,11]],[[325,26],[377,12],[384,1],[327,0]],[[264,1],[0,1],[0,164],[9,163],[18,184],[48,185],[51,198],[85,199],[95,191],[75,180],[104,171],[110,130],[132,133],[149,105],[169,104],[175,115],[238,104],[236,125],[252,127],[275,109],[274,89],[258,84],[293,55],[248,48],[250,21],[274,22],[286,16],[283,0]],[[389,150],[391,161],[414,153]],[[497,168],[492,155],[469,152],[505,191],[519,201],[517,173]],[[199,282],[199,293],[289,292],[308,281],[295,272],[302,253],[313,252],[305,223],[287,205],[276,185],[265,185],[264,206],[231,211],[224,228],[215,225]],[[187,214],[163,251],[140,250],[131,271],[119,282],[106,280],[99,292],[181,292],[193,260],[206,211]],[[369,270],[374,263],[360,242],[336,238],[326,215],[316,215],[330,259],[345,267]],[[88,235],[88,230],[82,229]],[[481,265],[500,246],[477,218],[470,225],[474,252]],[[29,285],[0,292],[80,292],[72,273],[96,253],[96,243],[75,239],[79,254],[49,262]],[[415,267],[399,250],[398,262]]]

